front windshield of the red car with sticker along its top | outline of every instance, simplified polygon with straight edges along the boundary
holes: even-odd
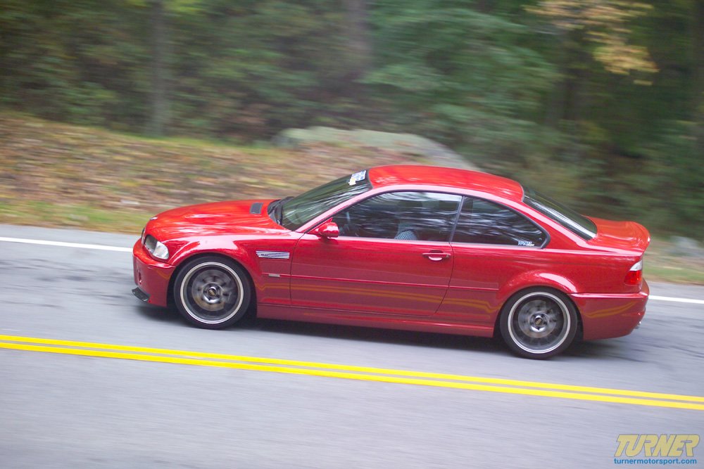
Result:
[[[291,231],[318,217],[330,208],[369,191],[372,185],[366,171],[344,176],[298,195],[282,204],[281,224]]]

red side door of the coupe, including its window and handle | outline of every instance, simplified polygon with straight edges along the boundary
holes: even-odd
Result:
[[[291,303],[299,307],[429,316],[453,268],[448,243],[461,197],[397,191],[337,213],[337,238],[307,233],[291,263]]]

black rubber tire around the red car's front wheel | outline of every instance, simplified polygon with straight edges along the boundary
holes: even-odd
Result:
[[[204,329],[222,329],[247,314],[251,286],[244,269],[234,262],[222,257],[201,257],[179,269],[173,298],[189,323]]]

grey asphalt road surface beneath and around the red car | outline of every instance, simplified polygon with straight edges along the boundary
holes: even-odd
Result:
[[[0,237],[130,248],[137,234]],[[4,336],[704,396],[701,302],[651,300],[633,334],[530,361],[459,336],[262,320],[201,330],[132,296],[129,252],[1,240],[0,252]],[[702,287],[651,290],[704,300]],[[0,348],[0,467],[598,468],[615,465],[622,433],[704,434],[698,409],[122,358]],[[694,456],[704,465],[704,443]]]

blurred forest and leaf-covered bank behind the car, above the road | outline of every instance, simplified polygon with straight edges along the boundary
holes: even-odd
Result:
[[[0,73],[4,222],[139,232],[163,207],[435,162],[272,143],[325,126],[702,238],[701,0],[0,0]]]

